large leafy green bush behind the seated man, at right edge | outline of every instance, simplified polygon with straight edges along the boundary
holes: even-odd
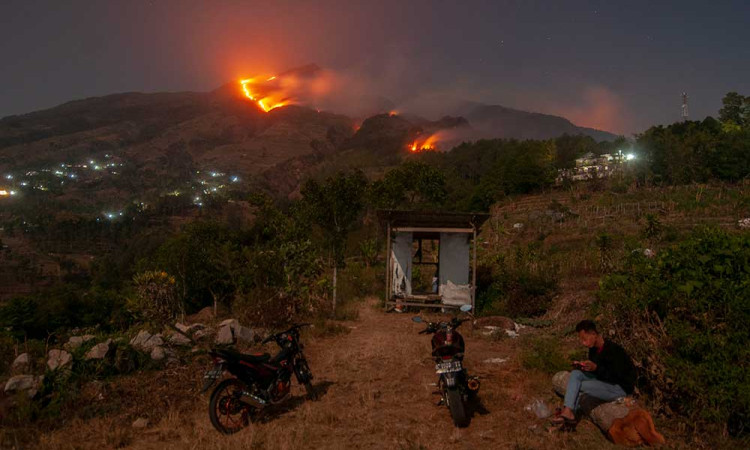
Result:
[[[655,258],[634,253],[599,297],[656,406],[747,433],[750,239],[704,229]]]

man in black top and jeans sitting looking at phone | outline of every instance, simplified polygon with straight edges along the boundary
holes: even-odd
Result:
[[[589,348],[586,361],[574,361],[578,370],[573,370],[565,390],[564,408],[558,422],[575,421],[580,394],[606,402],[633,393],[635,366],[625,350],[596,330],[596,324],[583,320],[576,325],[576,333],[581,344]]]

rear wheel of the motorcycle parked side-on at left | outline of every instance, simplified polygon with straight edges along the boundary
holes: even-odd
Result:
[[[242,402],[240,396],[245,384],[236,378],[229,378],[211,393],[208,402],[208,417],[211,425],[222,434],[234,434],[250,425],[252,406]]]

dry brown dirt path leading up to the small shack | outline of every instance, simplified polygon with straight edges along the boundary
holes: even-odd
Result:
[[[442,448],[607,448],[598,430],[585,423],[570,436],[551,435],[524,405],[533,398],[552,399],[548,377],[529,374],[518,361],[518,339],[491,341],[466,326],[465,365],[480,376],[480,397],[487,412],[456,429],[446,407],[436,406],[436,375],[429,336],[411,314],[385,314],[374,302],[362,305],[359,319],[346,322],[351,332],[307,339],[306,354],[319,401],[302,399],[295,385],[286,410],[265,423],[233,436],[210,425],[208,396],[195,408],[174,409],[159,423],[118,436],[96,448],[134,449],[442,449]],[[502,358],[505,362],[486,362]],[[123,424],[128,428],[128,424]],[[106,428],[106,426],[102,426]],[[127,430],[123,431],[126,433]],[[91,433],[87,434],[91,436]],[[82,436],[82,434],[78,434]],[[62,436],[48,442],[61,442]],[[107,442],[108,441],[108,442]],[[94,442],[89,441],[88,444]],[[55,448],[82,448],[51,445]]]

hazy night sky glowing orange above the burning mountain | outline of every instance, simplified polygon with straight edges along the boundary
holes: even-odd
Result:
[[[438,116],[467,99],[630,135],[750,95],[750,2],[0,0],[0,116],[307,63]],[[342,88],[343,89],[343,88]]]

